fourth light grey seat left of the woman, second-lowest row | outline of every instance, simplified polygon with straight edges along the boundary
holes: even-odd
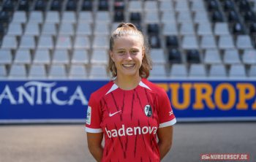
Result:
[[[34,64],[50,64],[49,50],[36,50],[34,53]]]

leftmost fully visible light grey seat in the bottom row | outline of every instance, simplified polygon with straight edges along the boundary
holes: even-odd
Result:
[[[10,68],[10,79],[26,79],[26,67],[24,65],[12,64]]]

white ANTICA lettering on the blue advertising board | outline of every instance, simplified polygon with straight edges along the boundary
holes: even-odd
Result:
[[[65,97],[66,99],[59,99],[58,93],[67,94],[69,88],[67,86],[57,87],[56,82],[26,82],[15,88],[18,92],[18,100],[15,100],[14,96],[17,96],[14,90],[10,89],[9,85],[5,85],[4,90],[0,91],[0,104],[3,99],[10,100],[10,104],[24,104],[26,99],[31,106],[34,104],[57,104],[57,105],[72,105],[75,100],[80,100],[82,105],[87,105],[88,101],[83,94],[83,90],[80,85],[77,86],[72,95]],[[45,97],[45,101],[42,101],[42,96]]]

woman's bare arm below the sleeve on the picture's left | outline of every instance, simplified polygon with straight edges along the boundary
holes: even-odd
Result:
[[[103,132],[96,134],[87,132],[88,148],[91,155],[93,155],[98,162],[102,161],[103,157],[102,139]]]

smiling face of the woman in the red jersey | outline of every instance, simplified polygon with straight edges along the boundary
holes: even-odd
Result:
[[[114,40],[110,57],[115,62],[118,76],[139,75],[144,50],[138,36],[121,36]]]

